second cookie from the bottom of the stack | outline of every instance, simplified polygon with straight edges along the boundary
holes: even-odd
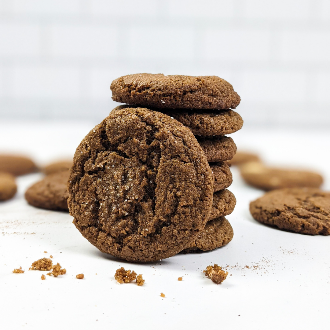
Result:
[[[219,216],[229,215],[234,211],[236,198],[234,194],[227,190],[220,190],[213,194],[213,204],[209,221]]]

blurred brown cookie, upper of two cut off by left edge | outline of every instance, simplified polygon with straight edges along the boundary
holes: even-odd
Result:
[[[32,173],[36,170],[36,164],[28,157],[0,154],[0,172],[7,172],[18,176]]]

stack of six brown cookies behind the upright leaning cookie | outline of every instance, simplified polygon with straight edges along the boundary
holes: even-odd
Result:
[[[232,138],[241,129],[242,117],[234,112],[240,103],[231,84],[215,77],[135,74],[112,82],[113,99],[127,103],[113,112],[132,106],[162,112],[188,127],[204,151],[214,177],[213,208],[205,229],[183,252],[211,250],[230,242],[233,230],[224,215],[235,207],[235,196],[226,188],[232,174],[225,161],[236,153]]]

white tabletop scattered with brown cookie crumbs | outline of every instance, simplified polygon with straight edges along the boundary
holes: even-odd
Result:
[[[93,124],[72,126],[2,122],[0,151],[25,152],[39,163],[72,155]],[[330,132],[244,128],[232,137],[240,149],[260,152],[267,163],[320,171],[323,187],[330,189]],[[149,264],[99,252],[82,237],[69,214],[25,202],[24,191],[40,174],[18,178],[15,198],[0,204],[1,329],[326,328],[330,237],[259,224],[248,204],[263,192],[246,186],[237,169],[232,172],[229,189],[237,206],[227,218],[233,240],[212,252],[178,254]],[[50,254],[67,274],[42,281],[47,272],[28,269]],[[228,265],[230,275],[221,285],[202,273],[213,263]],[[19,266],[25,273],[13,274]],[[143,274],[145,285],[118,284],[114,274],[122,266]],[[79,273],[85,279],[76,279]]]

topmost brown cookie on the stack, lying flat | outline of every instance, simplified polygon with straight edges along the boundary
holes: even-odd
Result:
[[[169,109],[235,109],[241,99],[233,86],[216,76],[164,76],[141,73],[111,83],[116,102]]]

